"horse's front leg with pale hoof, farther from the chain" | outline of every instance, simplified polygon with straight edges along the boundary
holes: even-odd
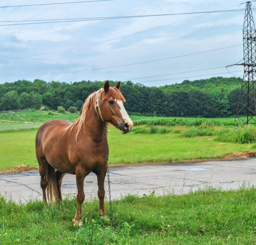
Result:
[[[77,180],[77,212],[73,219],[74,225],[82,225],[82,204],[84,202],[84,178],[87,174],[82,168],[76,169]]]

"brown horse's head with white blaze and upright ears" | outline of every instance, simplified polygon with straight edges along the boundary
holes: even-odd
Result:
[[[112,123],[121,133],[125,134],[131,131],[133,121],[123,106],[125,99],[119,87],[120,82],[115,87],[110,87],[109,82],[105,82],[100,96],[100,114],[103,121]]]

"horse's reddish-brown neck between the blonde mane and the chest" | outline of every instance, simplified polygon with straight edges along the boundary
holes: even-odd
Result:
[[[84,124],[79,133],[79,138],[90,137],[95,142],[101,142],[104,137],[104,125],[95,110],[89,109],[85,116]]]

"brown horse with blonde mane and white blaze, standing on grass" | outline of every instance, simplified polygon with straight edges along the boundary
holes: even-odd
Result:
[[[84,102],[82,114],[74,123],[51,120],[44,123],[36,134],[36,158],[41,175],[43,200],[61,201],[61,182],[66,173],[75,174],[77,181],[77,212],[73,219],[82,225],[81,209],[84,202],[84,178],[90,172],[97,175],[99,215],[106,217],[104,180],[107,172],[105,151],[106,122],[121,133],[129,133],[133,122],[128,116],[119,91],[120,82],[92,93]],[[108,154],[108,153],[107,153]],[[49,197],[50,196],[50,197]]]

